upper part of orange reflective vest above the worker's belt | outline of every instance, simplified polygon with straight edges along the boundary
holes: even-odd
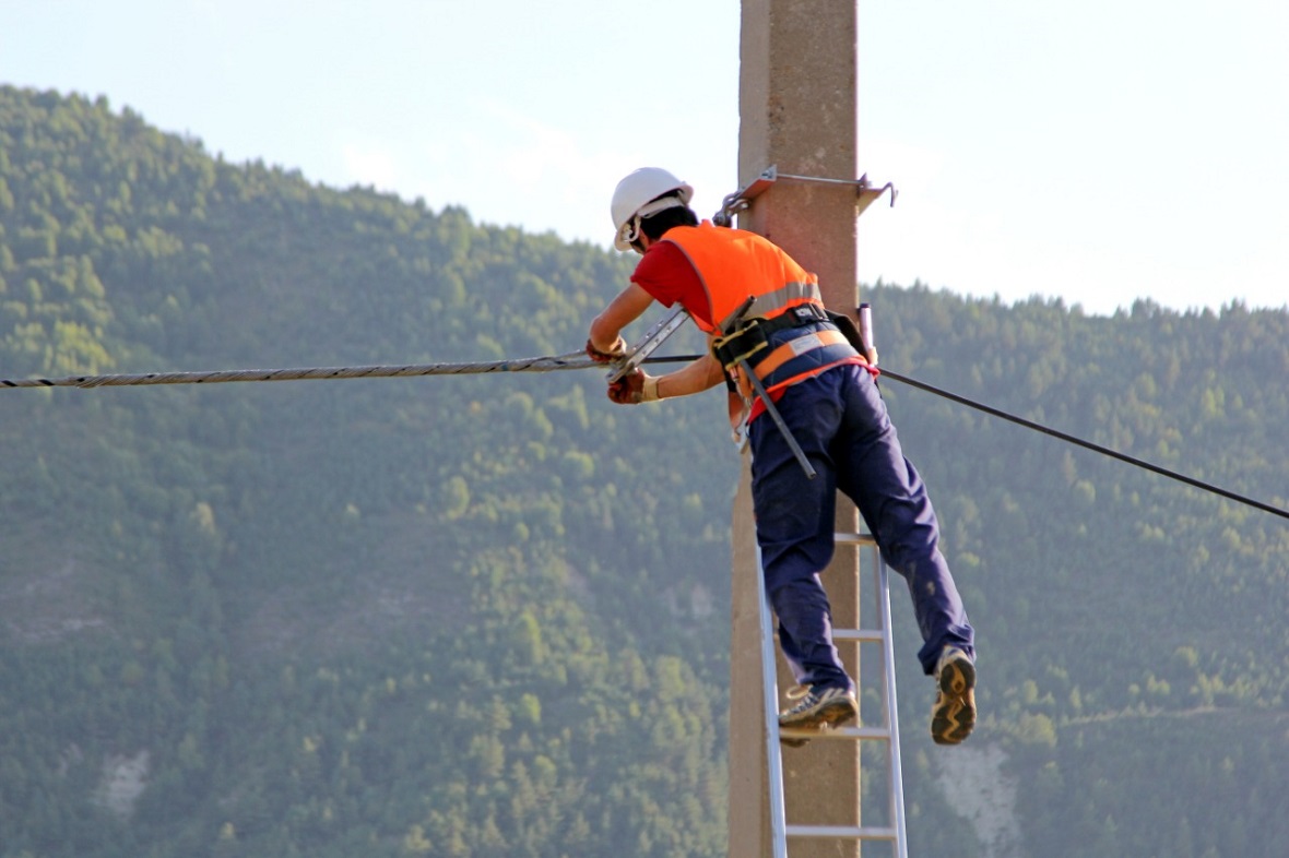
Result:
[[[713,325],[699,321],[697,314],[693,321],[708,334],[749,295],[757,300],[744,313],[745,319],[773,318],[807,303],[824,305],[819,278],[754,232],[703,222],[697,227],[673,227],[661,241],[679,247],[697,272],[712,305]]]

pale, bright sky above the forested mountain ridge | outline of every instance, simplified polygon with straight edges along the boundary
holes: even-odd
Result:
[[[739,17],[739,0],[0,0],[0,84],[608,247],[637,166],[692,183],[703,216],[737,189]],[[1097,314],[1285,307],[1286,33],[1284,0],[866,0],[857,171],[900,197],[860,222],[861,282]]]

